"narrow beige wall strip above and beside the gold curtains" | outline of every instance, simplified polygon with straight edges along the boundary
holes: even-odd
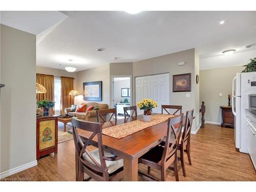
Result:
[[[64,76],[64,77],[74,77],[74,89],[77,89],[77,72],[67,72],[66,70],[61,70],[61,69],[53,69],[53,68],[47,68],[47,67],[41,67],[41,66],[36,66],[36,73],[41,73],[41,74],[47,74],[47,75],[53,75],[56,77]]]

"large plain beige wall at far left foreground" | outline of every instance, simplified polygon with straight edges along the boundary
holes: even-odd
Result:
[[[1,25],[2,174],[36,163],[35,65],[36,36]]]

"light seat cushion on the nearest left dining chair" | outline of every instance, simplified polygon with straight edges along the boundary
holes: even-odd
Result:
[[[100,160],[99,160],[99,149],[98,148],[94,151],[91,151],[90,154],[93,156],[93,158],[99,164],[101,164]],[[83,156],[84,159],[86,159],[90,163],[95,164],[86,153],[84,153],[82,156]],[[104,151],[104,156],[105,157],[112,157],[114,155]],[[117,169],[121,168],[122,166],[123,166],[123,159],[120,159],[120,160],[117,160],[117,161],[106,161],[106,167],[108,168],[108,173],[109,174],[115,172]]]

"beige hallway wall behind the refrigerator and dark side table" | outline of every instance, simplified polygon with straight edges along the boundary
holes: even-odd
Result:
[[[232,80],[242,66],[200,71],[200,101],[205,101],[205,120],[221,122],[220,105],[227,105],[227,95],[232,92]],[[222,93],[222,97],[219,96]]]

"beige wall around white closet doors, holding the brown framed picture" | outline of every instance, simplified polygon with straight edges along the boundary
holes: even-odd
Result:
[[[134,62],[134,77],[153,75],[159,73],[170,74],[170,104],[182,105],[183,112],[195,109],[195,113],[199,112],[199,84],[195,83],[195,75],[199,71],[199,58],[195,53],[195,49],[189,49],[177,53],[145,59]],[[178,62],[184,61],[184,66],[178,66]],[[195,67],[196,65],[196,67]],[[173,75],[191,73],[191,92],[172,92]],[[135,98],[135,85],[133,82],[133,97]],[[190,98],[185,97],[186,93],[190,93]],[[195,124],[194,124],[195,125]],[[194,126],[195,129],[196,126]]]

